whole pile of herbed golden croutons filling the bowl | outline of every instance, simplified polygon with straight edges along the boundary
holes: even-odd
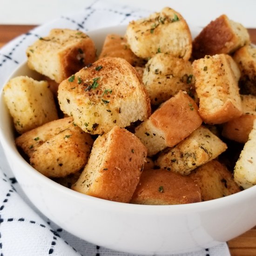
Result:
[[[192,40],[163,8],[107,35],[98,60],[88,35],[53,29],[27,48],[27,65],[42,80],[15,77],[4,97],[17,147],[54,181],[153,205],[256,184],[256,48],[226,15]]]

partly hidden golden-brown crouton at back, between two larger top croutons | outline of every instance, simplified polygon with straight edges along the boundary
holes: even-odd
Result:
[[[99,59],[105,57],[122,58],[133,66],[143,62],[143,60],[131,51],[127,39],[118,34],[108,34],[106,36]]]

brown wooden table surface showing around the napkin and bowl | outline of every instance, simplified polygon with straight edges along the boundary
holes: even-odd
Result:
[[[0,47],[34,27],[32,25],[0,25]],[[251,41],[256,44],[256,29],[248,30]],[[231,256],[256,256],[256,227],[230,240],[228,245]]]

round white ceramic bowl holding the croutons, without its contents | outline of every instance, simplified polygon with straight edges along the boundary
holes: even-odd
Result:
[[[124,30],[111,27],[88,34],[101,48],[106,34],[122,35]],[[34,76],[26,64],[11,77],[21,74]],[[208,202],[164,206],[110,202],[67,189],[19,154],[2,93],[0,117],[0,141],[27,197],[49,219],[88,242],[132,253],[174,254],[228,241],[256,225],[256,186]]]

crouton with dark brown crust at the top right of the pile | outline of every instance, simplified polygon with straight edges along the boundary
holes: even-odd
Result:
[[[249,42],[249,33],[243,25],[221,15],[194,39],[193,56],[199,59],[205,55],[231,54]]]

